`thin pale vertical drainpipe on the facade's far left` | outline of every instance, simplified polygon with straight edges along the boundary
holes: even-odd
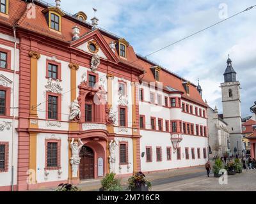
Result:
[[[15,76],[16,76],[16,48],[17,48],[17,39],[16,39],[16,28],[13,26],[13,36],[14,36],[14,56],[13,56],[13,93],[12,93],[12,191],[14,191],[14,134],[15,134],[15,115],[14,115],[14,107],[15,107]]]

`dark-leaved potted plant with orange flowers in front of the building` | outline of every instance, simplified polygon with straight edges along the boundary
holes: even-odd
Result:
[[[128,179],[128,183],[128,190],[131,191],[148,191],[148,189],[152,188],[152,182],[146,180],[145,174],[141,171],[134,173]]]

